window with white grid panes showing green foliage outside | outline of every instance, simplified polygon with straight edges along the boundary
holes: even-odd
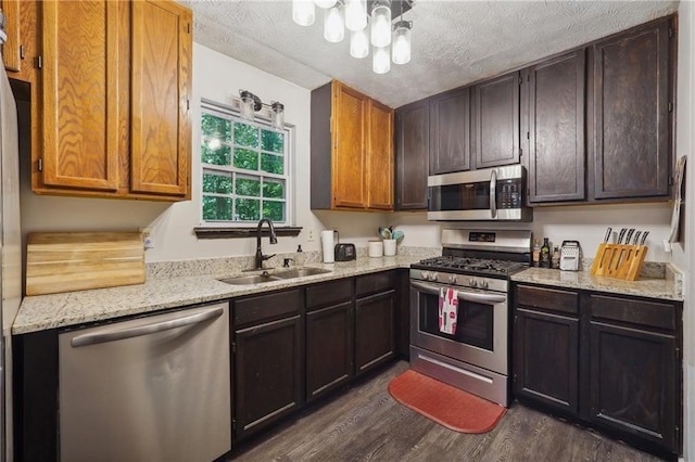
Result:
[[[201,117],[202,222],[290,224],[290,131],[245,120],[204,101]]]

